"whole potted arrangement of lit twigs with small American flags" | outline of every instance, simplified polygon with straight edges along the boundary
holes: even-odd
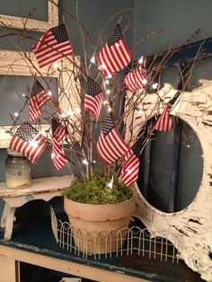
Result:
[[[43,67],[47,68],[49,74],[54,74],[52,69],[55,67],[59,79],[66,76],[67,84],[59,81],[57,101],[49,92],[50,85],[45,77],[38,79],[38,76],[33,75],[34,83],[26,87],[27,95],[24,97],[27,100],[23,107],[29,107],[30,123],[25,121],[17,129],[22,109],[15,113],[10,130],[13,135],[10,147],[24,154],[31,163],[36,163],[49,145],[57,170],[65,165],[74,174],[86,170],[86,177],[74,181],[64,193],[65,210],[73,226],[77,247],[92,253],[115,251],[124,242],[126,227],[135,205],[135,197],[129,188],[137,181],[139,154],[149,139],[141,138],[139,134],[133,135],[133,129],[137,127],[134,122],[139,119],[137,112],[141,111],[137,107],[147,91],[157,91],[157,84],[152,87],[155,85],[152,84],[155,78],[152,75],[157,72],[155,69],[147,72],[143,57],[135,66],[130,66],[134,58],[121,33],[122,18],[121,15],[116,19],[114,30],[104,44],[100,44],[102,38],[96,40],[96,45],[92,46],[90,66],[85,50],[84,60],[81,57],[80,64],[76,62],[65,23],[36,39],[32,51],[38,64],[28,52],[22,53],[24,60],[37,71],[37,75],[40,75]],[[75,22],[83,36],[93,41],[84,25],[78,20]],[[27,38],[27,31],[25,34],[24,39]],[[44,56],[46,53],[47,56]],[[71,69],[66,66],[66,59],[72,63]],[[124,77],[125,69],[128,75]],[[162,66],[158,69],[162,69]],[[73,104],[74,94],[76,102]],[[64,104],[61,97],[67,98],[66,110],[61,106]],[[123,110],[125,101],[126,111]],[[48,111],[48,106],[51,111]],[[49,120],[46,137],[40,130],[41,119],[45,122]],[[126,125],[129,128],[128,140],[125,140]],[[67,156],[66,153],[71,155]],[[102,174],[93,172],[96,163],[102,168]],[[89,225],[85,224],[85,220]],[[111,233],[114,230],[117,234]]]

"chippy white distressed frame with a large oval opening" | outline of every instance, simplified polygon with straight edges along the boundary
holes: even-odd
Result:
[[[212,281],[212,81],[201,82],[203,85],[192,92],[181,93],[171,112],[190,125],[202,146],[204,166],[196,198],[180,212],[168,214],[152,207],[136,187],[135,216],[141,219],[153,237],[170,240],[190,269],[198,271],[201,278]],[[172,85],[166,84],[159,95],[164,101],[169,101],[175,93]],[[157,99],[154,94],[147,95],[139,106],[144,115],[137,112],[136,116],[129,118],[135,121],[134,136],[146,119],[155,115]],[[128,139],[129,136],[127,128]]]

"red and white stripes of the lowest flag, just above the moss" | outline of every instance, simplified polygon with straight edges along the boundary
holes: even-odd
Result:
[[[139,172],[139,159],[137,155],[130,149],[124,157],[124,165],[120,178],[125,184],[130,187],[137,182]]]

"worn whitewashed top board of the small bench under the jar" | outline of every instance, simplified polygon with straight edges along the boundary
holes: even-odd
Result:
[[[4,182],[0,182],[0,197],[13,198],[31,194],[59,191],[70,186],[73,176],[54,176],[38,178],[31,181],[31,186],[25,189],[8,189]]]

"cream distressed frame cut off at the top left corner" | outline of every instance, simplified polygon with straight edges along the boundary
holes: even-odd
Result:
[[[54,0],[54,3],[48,1],[47,22],[0,14],[0,26],[20,30],[24,28],[28,31],[48,31],[50,28],[58,25],[57,4],[58,0]]]

